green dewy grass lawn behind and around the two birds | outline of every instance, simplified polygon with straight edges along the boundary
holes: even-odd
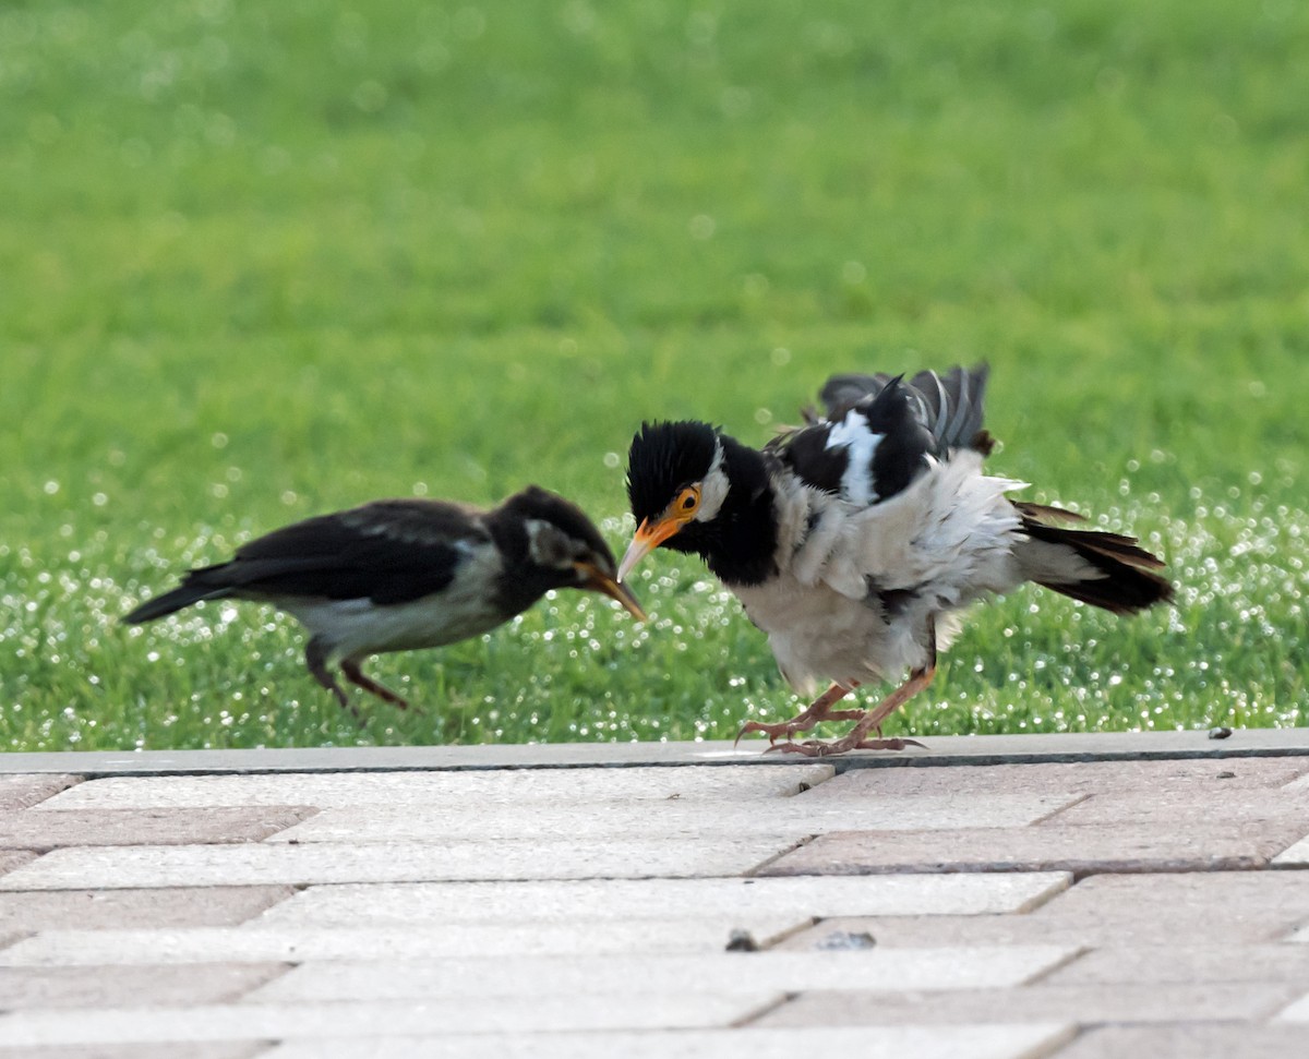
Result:
[[[575,496],[643,418],[762,442],[833,370],[988,359],[992,458],[1162,550],[1172,611],[980,609],[898,732],[1304,720],[1309,14],[30,0],[0,7],[0,746],[730,736],[796,707],[658,554],[374,664],[118,617],[386,495]]]

